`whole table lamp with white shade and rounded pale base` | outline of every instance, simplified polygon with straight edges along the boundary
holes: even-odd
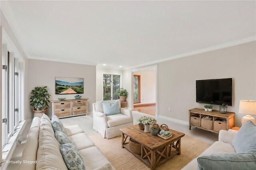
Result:
[[[251,115],[256,115],[256,101],[240,100],[239,113],[246,115],[242,118],[242,125],[247,121],[252,121],[255,124],[255,119]]]

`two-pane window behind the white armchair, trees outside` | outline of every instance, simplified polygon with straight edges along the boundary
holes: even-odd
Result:
[[[103,74],[103,100],[117,100],[120,89],[120,75]]]

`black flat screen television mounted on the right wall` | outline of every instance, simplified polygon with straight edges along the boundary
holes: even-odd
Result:
[[[232,106],[232,78],[196,80],[196,102]]]

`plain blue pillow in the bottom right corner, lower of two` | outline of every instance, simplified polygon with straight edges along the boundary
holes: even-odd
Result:
[[[211,154],[197,158],[198,170],[255,170],[256,154]]]

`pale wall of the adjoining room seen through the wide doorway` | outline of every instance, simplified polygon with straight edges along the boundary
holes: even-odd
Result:
[[[156,69],[134,71],[132,74],[140,75],[139,104],[156,103]]]

